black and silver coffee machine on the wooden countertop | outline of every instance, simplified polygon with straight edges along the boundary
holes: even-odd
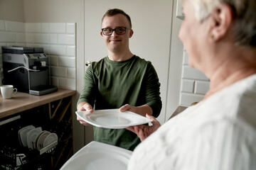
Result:
[[[3,84],[38,96],[58,90],[50,86],[48,56],[42,47],[2,47],[2,52]]]

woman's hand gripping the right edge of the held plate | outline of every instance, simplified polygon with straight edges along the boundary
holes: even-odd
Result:
[[[130,131],[136,133],[141,141],[145,140],[146,137],[151,135],[153,132],[155,132],[161,126],[159,121],[157,121],[156,118],[154,118],[154,116],[146,114],[146,118],[150,118],[151,120],[153,120],[151,122],[152,123],[151,126],[136,125],[136,126],[130,126],[130,127],[126,128],[127,130],[130,130]]]

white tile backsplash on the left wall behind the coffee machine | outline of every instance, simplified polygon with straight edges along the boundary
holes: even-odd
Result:
[[[75,23],[20,23],[0,20],[0,45],[43,47],[44,53],[48,55],[51,84],[75,90],[75,27]],[[0,72],[0,79],[2,77]]]

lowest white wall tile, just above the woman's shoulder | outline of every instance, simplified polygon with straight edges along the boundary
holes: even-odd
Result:
[[[181,106],[190,106],[193,102],[198,102],[203,100],[204,95],[200,94],[186,94],[181,93],[180,96],[180,105]]]

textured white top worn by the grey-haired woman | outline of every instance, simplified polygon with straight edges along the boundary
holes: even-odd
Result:
[[[171,118],[134,150],[128,169],[256,169],[256,74]]]

